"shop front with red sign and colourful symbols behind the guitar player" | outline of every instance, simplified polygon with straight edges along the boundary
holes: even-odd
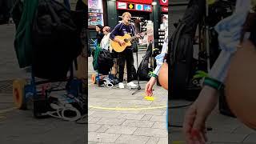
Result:
[[[122,14],[128,11],[132,15],[131,23],[134,23],[136,31],[148,33],[140,39],[139,45],[146,46],[151,41],[158,47],[158,30],[163,23],[163,14],[168,18],[167,6],[168,0],[88,0],[89,38],[94,39],[95,26],[98,24],[110,26],[113,30],[122,21]]]

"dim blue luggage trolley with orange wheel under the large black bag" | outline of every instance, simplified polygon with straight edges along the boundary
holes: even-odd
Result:
[[[46,84],[53,84],[59,82],[58,86],[49,86]],[[66,82],[66,86],[63,88],[61,85],[62,82]],[[66,90],[66,94],[58,96],[58,98],[63,98],[67,103],[78,103],[79,111],[82,111],[81,114],[85,114],[85,97],[84,90],[82,86],[82,80],[74,78],[73,68],[70,69],[70,78],[62,79],[59,81],[56,80],[41,80],[38,81],[33,74],[33,67],[31,72],[31,79],[26,81],[25,79],[16,79],[13,83],[13,97],[14,104],[19,110],[27,110],[28,105],[32,104],[32,109],[34,112],[35,118],[46,118],[49,116],[48,111],[55,109],[50,106],[50,102],[56,101],[53,99],[56,97],[50,96],[51,92],[63,91]],[[67,96],[67,95],[71,95]],[[51,99],[50,99],[51,98]],[[81,117],[81,115],[80,115]],[[75,119],[77,120],[77,119]]]

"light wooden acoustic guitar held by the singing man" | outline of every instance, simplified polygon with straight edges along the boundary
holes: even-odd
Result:
[[[142,36],[142,34],[145,34],[145,32],[142,32],[141,34],[138,34],[138,35]],[[127,46],[131,46],[131,41],[134,40],[136,38],[136,36],[131,37],[130,34],[124,34],[124,36],[118,36],[117,35],[117,36],[115,36],[115,38],[118,38],[118,39],[123,40],[124,42],[126,42],[126,44],[122,46],[119,42],[115,42],[115,41],[112,41],[112,40],[110,41],[110,45],[112,46],[112,48],[116,52],[120,53],[123,50],[126,50]]]

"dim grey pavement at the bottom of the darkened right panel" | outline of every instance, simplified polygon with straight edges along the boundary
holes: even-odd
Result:
[[[172,106],[184,105],[189,102],[183,100],[173,100]],[[182,125],[183,117],[186,112],[186,108],[172,109],[171,124]],[[214,109],[210,117],[206,122],[207,127],[211,127],[213,130],[207,131],[208,143],[211,144],[255,144],[256,143],[256,131],[244,126],[242,122],[239,122],[237,118],[226,116],[219,113],[218,106]],[[184,141],[181,128],[173,127],[170,135],[172,141]]]

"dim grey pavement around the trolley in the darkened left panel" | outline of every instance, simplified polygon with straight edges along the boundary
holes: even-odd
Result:
[[[58,118],[36,119],[32,110],[17,110],[14,107],[12,81],[30,78],[30,73],[18,66],[14,31],[14,25],[0,25],[0,143],[86,143],[84,124]]]

